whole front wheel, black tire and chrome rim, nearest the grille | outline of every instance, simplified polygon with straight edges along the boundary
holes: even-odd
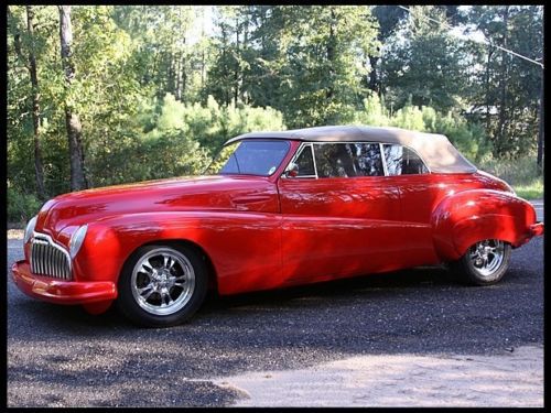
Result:
[[[187,320],[203,303],[207,269],[187,247],[145,246],[128,259],[117,304],[136,324],[168,327]]]

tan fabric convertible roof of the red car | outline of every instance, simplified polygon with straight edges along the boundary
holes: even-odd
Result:
[[[285,131],[250,132],[231,138],[226,143],[242,139],[285,139],[306,142],[382,142],[398,143],[415,150],[431,172],[473,173],[477,167],[468,162],[443,134],[423,133],[390,127],[317,127]]]

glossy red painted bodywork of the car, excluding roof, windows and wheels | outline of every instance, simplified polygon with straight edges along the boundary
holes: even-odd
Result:
[[[224,175],[152,181],[58,196],[36,232],[68,249],[74,281],[13,264],[26,294],[105,311],[122,265],[149,243],[186,242],[210,262],[218,292],[236,294],[455,260],[482,239],[518,247],[543,232],[536,211],[486,173],[355,178],[282,176],[300,142],[269,177]]]

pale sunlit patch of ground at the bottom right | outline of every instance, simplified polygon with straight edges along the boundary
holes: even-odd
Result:
[[[215,383],[242,392],[238,406],[542,407],[543,348],[498,356],[361,356]]]

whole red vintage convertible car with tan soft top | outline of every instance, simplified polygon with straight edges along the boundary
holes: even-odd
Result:
[[[57,196],[32,218],[13,280],[30,296],[117,302],[131,320],[188,319],[220,295],[447,263],[507,271],[543,233],[533,207],[441,134],[320,127],[230,139],[201,177]]]

